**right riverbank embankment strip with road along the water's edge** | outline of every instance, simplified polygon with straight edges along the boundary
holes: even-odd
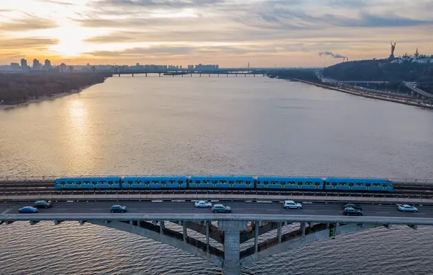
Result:
[[[355,91],[352,89],[343,89],[343,88],[337,88],[337,87],[332,87],[332,86],[328,86],[328,85],[322,85],[320,83],[313,83],[307,80],[300,80],[300,79],[296,79],[296,78],[280,78],[280,79],[287,79],[287,80],[293,80],[293,81],[297,81],[300,83],[305,83],[305,84],[309,84],[309,85],[314,85],[317,87],[321,87],[324,89],[331,89],[334,91],[341,91],[342,93],[345,94],[351,94],[353,96],[362,96],[364,98],[373,98],[373,99],[377,99],[377,100],[384,100],[384,101],[389,101],[389,102],[395,102],[395,103],[399,103],[399,104],[405,104],[405,105],[410,105],[410,106],[415,106],[415,107],[421,107],[421,108],[425,108],[425,109],[433,109],[433,105],[429,105],[429,104],[422,104],[419,102],[415,102],[412,100],[408,100],[408,99],[404,99],[404,98],[397,98],[397,97],[392,97],[392,96],[381,96],[381,95],[377,95],[377,94],[368,94],[362,91]]]

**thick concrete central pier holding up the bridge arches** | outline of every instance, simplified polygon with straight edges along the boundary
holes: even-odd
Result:
[[[218,221],[219,230],[224,231],[224,262],[223,275],[240,275],[241,262],[239,252],[241,250],[240,232],[248,229],[247,221]]]

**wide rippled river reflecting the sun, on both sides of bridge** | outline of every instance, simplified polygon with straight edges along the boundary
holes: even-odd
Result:
[[[0,175],[246,174],[433,178],[433,112],[263,77],[109,78],[0,110]],[[125,232],[0,225],[0,274],[219,274]],[[245,274],[432,274],[433,229],[366,230]]]

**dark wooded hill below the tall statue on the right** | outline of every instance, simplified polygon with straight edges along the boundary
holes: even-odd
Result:
[[[433,82],[430,63],[390,63],[386,59],[339,63],[323,70],[326,78],[335,80],[417,81]]]

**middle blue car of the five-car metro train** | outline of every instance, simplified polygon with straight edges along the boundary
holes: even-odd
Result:
[[[254,188],[252,176],[190,176],[189,188]]]

